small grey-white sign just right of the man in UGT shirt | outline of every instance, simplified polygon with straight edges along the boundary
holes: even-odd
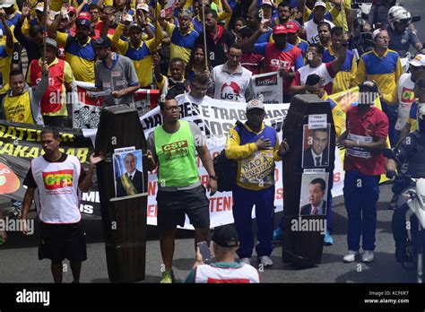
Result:
[[[278,72],[253,75],[251,87],[255,99],[262,97],[265,104],[283,103],[282,77]]]

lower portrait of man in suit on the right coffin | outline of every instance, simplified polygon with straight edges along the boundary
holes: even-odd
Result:
[[[326,182],[323,178],[313,179],[308,185],[309,204],[305,204],[299,209],[299,215],[326,214],[325,190]]]

